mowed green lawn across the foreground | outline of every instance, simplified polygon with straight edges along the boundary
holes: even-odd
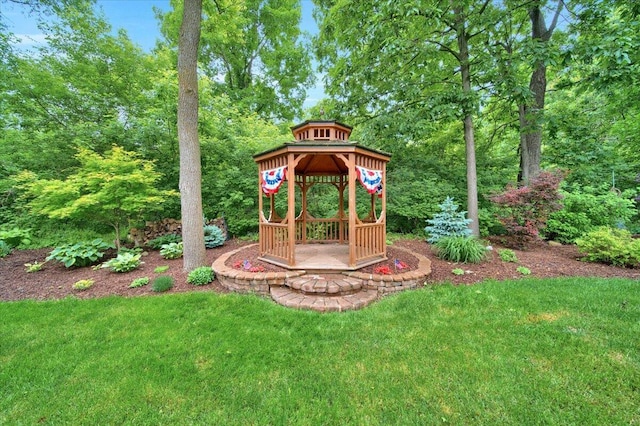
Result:
[[[0,424],[640,424],[640,282],[0,304]]]

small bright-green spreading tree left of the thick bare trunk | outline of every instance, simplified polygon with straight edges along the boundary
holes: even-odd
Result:
[[[84,219],[111,225],[119,248],[121,229],[143,214],[159,210],[175,191],[159,190],[153,163],[113,146],[104,156],[79,148],[80,167],[66,180],[21,175],[32,211],[52,219]]]

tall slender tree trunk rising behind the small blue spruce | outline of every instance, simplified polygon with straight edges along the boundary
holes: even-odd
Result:
[[[473,131],[473,98],[471,92],[471,66],[469,64],[469,35],[465,28],[465,16],[459,7],[454,7],[456,16],[456,36],[458,39],[458,60],[462,76],[462,92],[464,94],[464,142],[467,157],[467,214],[471,223],[472,235],[480,235],[478,221],[478,176],[476,173],[476,145]]]

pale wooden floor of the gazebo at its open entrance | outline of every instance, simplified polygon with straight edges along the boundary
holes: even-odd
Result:
[[[376,257],[359,262],[355,267],[349,266],[349,246],[347,244],[296,244],[295,266],[286,266],[293,270],[305,270],[307,272],[332,272],[354,271],[365,266],[386,260],[386,257]]]

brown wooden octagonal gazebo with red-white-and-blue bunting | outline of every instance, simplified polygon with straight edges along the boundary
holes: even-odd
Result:
[[[306,121],[291,130],[294,141],[254,156],[259,174],[260,258],[290,269],[310,269],[302,261],[309,252],[303,256],[302,250],[313,246],[320,256],[335,259],[344,253],[338,265],[324,269],[353,270],[385,260],[389,154],[349,141],[351,127],[336,121]],[[307,209],[309,189],[320,184],[338,191],[334,217],[313,217]],[[369,213],[364,217],[357,214],[356,194],[363,192],[358,186],[366,190]],[[281,217],[276,197],[283,196],[286,214]],[[278,204],[282,205],[280,200]]]

